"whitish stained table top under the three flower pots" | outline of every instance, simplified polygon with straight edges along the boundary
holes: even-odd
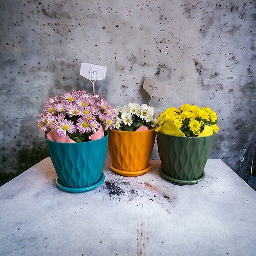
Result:
[[[55,185],[50,158],[0,187],[1,255],[256,255],[256,193],[220,159],[178,186],[160,160],[139,177],[104,165],[81,194]]]

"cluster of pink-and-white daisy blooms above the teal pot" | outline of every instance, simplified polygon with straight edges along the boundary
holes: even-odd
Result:
[[[47,100],[43,112],[37,115],[37,125],[46,135],[52,129],[59,136],[68,136],[76,142],[90,141],[100,126],[103,131],[114,128],[114,109],[99,95],[88,95],[86,91],[73,91]],[[107,117],[107,118],[106,118]]]

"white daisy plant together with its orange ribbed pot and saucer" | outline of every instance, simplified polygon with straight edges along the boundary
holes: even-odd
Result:
[[[150,170],[155,143],[155,109],[147,104],[129,103],[114,109],[114,128],[109,134],[111,169],[122,176],[139,176]]]

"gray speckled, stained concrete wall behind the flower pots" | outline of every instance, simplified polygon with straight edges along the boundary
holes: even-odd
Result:
[[[146,103],[145,77],[167,84],[157,114],[190,102],[219,116],[211,158],[242,178],[255,143],[254,1],[0,1],[1,172],[47,156],[37,113],[72,90],[91,92],[81,62],[107,68],[96,93]],[[158,159],[155,145],[152,158]]]

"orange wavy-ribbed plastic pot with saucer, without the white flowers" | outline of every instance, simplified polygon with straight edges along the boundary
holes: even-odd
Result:
[[[155,129],[141,132],[110,131],[111,169],[122,176],[140,176],[150,170]]]

